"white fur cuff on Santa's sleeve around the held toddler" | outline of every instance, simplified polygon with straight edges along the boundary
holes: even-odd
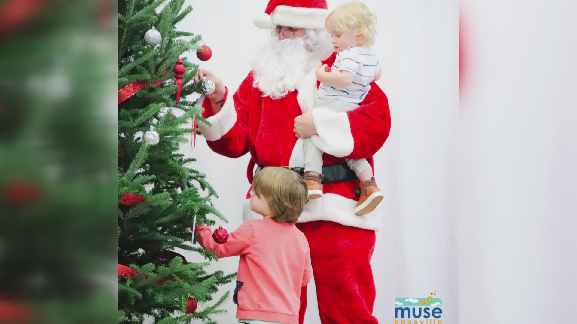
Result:
[[[353,152],[354,140],[346,112],[335,112],[328,108],[317,107],[312,111],[317,134],[311,138],[317,148],[323,152],[343,157]]]

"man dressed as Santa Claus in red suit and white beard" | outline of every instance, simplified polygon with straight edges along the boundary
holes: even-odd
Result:
[[[324,152],[324,195],[306,204],[297,227],[309,242],[321,323],[377,323],[372,315],[376,289],[370,259],[381,208],[354,214],[359,180],[345,159],[365,158],[373,165],[372,156],[388,137],[391,116],[387,96],[374,82],[355,110],[308,110],[319,85],[314,70],[335,61],[324,28],[327,15],[325,0],[269,1],[254,22],[270,28],[273,36],[258,51],[236,92],[210,71],[198,70],[196,81],[212,80],[216,85],[215,92],[199,99],[211,123],[199,127],[216,153],[233,158],[250,153],[249,182],[267,166],[302,174],[302,138],[316,138]],[[260,217],[250,211],[249,194],[246,198],[243,220]],[[306,287],[300,323],[305,310]]]

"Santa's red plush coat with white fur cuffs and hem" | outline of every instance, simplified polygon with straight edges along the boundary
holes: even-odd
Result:
[[[333,54],[327,61],[335,61]],[[319,66],[314,65],[314,68]],[[313,107],[313,98],[319,86],[310,70],[297,89],[279,100],[263,97],[253,86],[252,71],[242,81],[237,92],[230,95],[228,89],[222,110],[212,115],[208,99],[201,97],[203,116],[211,126],[199,125],[208,146],[228,157],[239,157],[250,152],[256,165],[278,167],[303,167],[302,139],[293,132],[294,118],[302,114],[301,106]],[[387,96],[374,82],[360,107],[347,112],[334,112],[329,108],[312,110],[318,136],[314,144],[325,152],[324,164],[344,162],[344,159],[368,159],[383,146],[391,129],[391,115]],[[252,180],[253,163],[249,164],[248,178]],[[353,227],[380,228],[381,208],[364,216],[355,216],[353,210],[358,197],[354,197],[358,180],[324,184],[324,195],[312,199],[305,205],[299,222],[328,220]],[[247,194],[247,198],[248,198]],[[248,199],[243,206],[243,220],[260,217],[250,210]]]

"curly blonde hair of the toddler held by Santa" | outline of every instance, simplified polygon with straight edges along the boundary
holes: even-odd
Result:
[[[360,1],[351,1],[332,10],[325,20],[325,27],[334,27],[338,31],[350,31],[364,37],[359,46],[370,47],[377,34],[377,16]]]

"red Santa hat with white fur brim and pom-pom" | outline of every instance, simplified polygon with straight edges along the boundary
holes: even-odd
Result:
[[[269,0],[264,13],[253,17],[258,28],[283,25],[295,28],[324,28],[328,16],[326,0]]]

